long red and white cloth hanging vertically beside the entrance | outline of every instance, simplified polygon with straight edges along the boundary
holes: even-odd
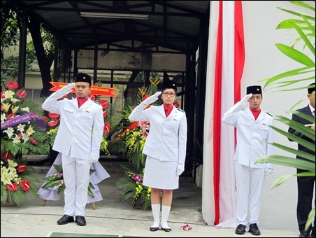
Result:
[[[222,116],[240,101],[245,62],[242,1],[210,4],[202,215],[208,225],[235,227],[235,133],[222,123]]]

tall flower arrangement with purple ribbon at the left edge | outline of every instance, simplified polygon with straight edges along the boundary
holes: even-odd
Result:
[[[9,205],[26,202],[28,194],[37,197],[38,179],[22,155],[47,153],[41,110],[18,87],[13,81],[1,91],[1,204]]]

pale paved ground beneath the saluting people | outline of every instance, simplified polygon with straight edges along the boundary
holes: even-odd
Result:
[[[174,191],[168,220],[172,232],[150,232],[152,211],[134,209],[130,202],[123,202],[124,192],[115,186],[123,175],[120,162],[101,161],[101,164],[111,177],[99,183],[103,200],[95,203],[96,209],[92,209],[92,204],[87,205],[86,226],[57,225],[64,214],[63,197],[47,201],[45,207],[41,199],[29,197],[27,204],[20,207],[1,207],[1,237],[253,237],[249,232],[236,235],[234,228],[206,225],[201,216],[202,190],[190,177],[180,177],[180,188]],[[44,179],[50,165],[35,165],[35,168],[38,177]],[[186,223],[192,225],[192,230],[180,229]],[[261,228],[261,237],[298,237],[298,232]]]

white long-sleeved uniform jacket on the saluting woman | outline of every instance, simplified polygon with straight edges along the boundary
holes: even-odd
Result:
[[[161,161],[185,163],[187,150],[187,118],[185,112],[173,106],[166,118],[164,106],[150,106],[143,103],[129,115],[129,120],[146,121],[150,130],[145,141],[143,153]],[[145,110],[144,110],[145,109]]]

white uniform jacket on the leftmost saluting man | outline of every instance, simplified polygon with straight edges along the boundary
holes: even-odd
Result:
[[[57,90],[42,105],[44,110],[60,115],[60,125],[52,149],[71,158],[99,158],[104,127],[102,106],[88,99],[78,109],[77,99],[57,101],[63,96]]]

